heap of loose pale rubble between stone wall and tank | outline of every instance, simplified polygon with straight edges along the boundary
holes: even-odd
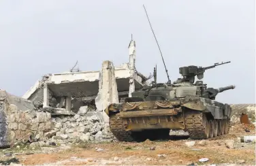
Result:
[[[102,122],[96,110],[89,106],[80,107],[74,116],[56,116],[51,118],[52,130],[44,137],[52,142],[65,144],[67,142],[112,142],[114,136],[108,124]]]

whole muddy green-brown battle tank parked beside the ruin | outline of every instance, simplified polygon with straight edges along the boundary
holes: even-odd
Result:
[[[180,67],[182,78],[173,83],[170,80],[157,83],[155,67],[155,80],[150,86],[133,92],[123,103],[108,105],[105,112],[110,117],[110,130],[121,142],[165,139],[170,129],[187,131],[192,139],[229,133],[231,107],[216,101],[215,97],[235,86],[207,88],[202,81],[204,71],[224,64]]]

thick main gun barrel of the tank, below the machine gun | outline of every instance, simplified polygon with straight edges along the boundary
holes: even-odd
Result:
[[[216,97],[219,93],[222,93],[222,92],[225,91],[225,90],[234,89],[234,88],[236,88],[236,86],[234,86],[234,85],[225,86],[225,87],[222,87],[222,88],[206,88],[206,89],[203,91],[202,96],[203,96],[204,98],[206,98],[206,99],[214,100],[215,97]]]

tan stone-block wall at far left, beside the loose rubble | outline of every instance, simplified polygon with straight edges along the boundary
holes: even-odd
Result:
[[[0,147],[34,142],[52,129],[50,113],[35,112],[31,101],[0,90]]]

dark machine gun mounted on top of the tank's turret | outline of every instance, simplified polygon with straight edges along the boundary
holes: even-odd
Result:
[[[204,71],[206,71],[207,69],[212,69],[219,65],[224,65],[226,63],[230,63],[230,61],[225,63],[214,63],[214,65],[208,67],[197,67],[193,65],[187,67],[180,67],[179,73],[181,74],[181,76],[183,76],[182,82],[193,83],[195,81],[195,76],[197,76],[198,80],[202,80],[202,78],[204,78]]]

